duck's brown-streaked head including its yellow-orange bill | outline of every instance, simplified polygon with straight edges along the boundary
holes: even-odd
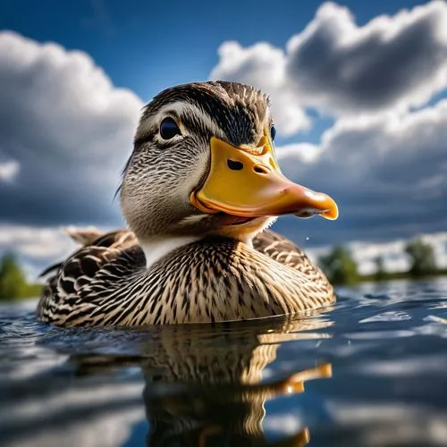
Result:
[[[265,95],[234,82],[166,89],[142,113],[122,211],[140,241],[250,240],[278,215],[337,216],[332,198],[286,179]]]

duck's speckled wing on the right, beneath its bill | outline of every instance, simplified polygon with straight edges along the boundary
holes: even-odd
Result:
[[[304,274],[318,274],[318,276],[321,274],[320,269],[302,249],[277,232],[271,230],[260,232],[253,240],[253,248],[284,266],[289,266]]]

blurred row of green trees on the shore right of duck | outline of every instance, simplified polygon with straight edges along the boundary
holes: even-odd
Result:
[[[410,240],[405,247],[410,258],[408,272],[386,272],[384,258],[375,258],[375,273],[362,275],[358,273],[358,264],[350,249],[337,246],[332,251],[318,259],[319,266],[327,275],[329,281],[335,285],[355,284],[360,281],[387,281],[392,279],[422,278],[438,274],[447,274],[447,269],[438,268],[434,257],[433,247],[421,239]]]

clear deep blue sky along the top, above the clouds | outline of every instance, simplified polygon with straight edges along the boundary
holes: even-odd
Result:
[[[392,0],[339,2],[358,24],[425,2]],[[226,40],[242,46],[266,41],[284,46],[312,20],[318,1],[194,2],[80,0],[64,3],[6,0],[0,29],[39,42],[55,41],[93,57],[116,87],[130,88],[144,101],[162,89],[207,80]]]

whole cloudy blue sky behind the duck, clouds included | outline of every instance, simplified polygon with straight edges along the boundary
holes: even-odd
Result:
[[[122,226],[114,191],[141,107],[193,80],[271,97],[294,181],[341,216],[275,229],[313,256],[349,244],[408,267],[425,234],[447,266],[447,3],[4,0],[0,11],[0,250],[34,274],[73,247],[67,225]]]

